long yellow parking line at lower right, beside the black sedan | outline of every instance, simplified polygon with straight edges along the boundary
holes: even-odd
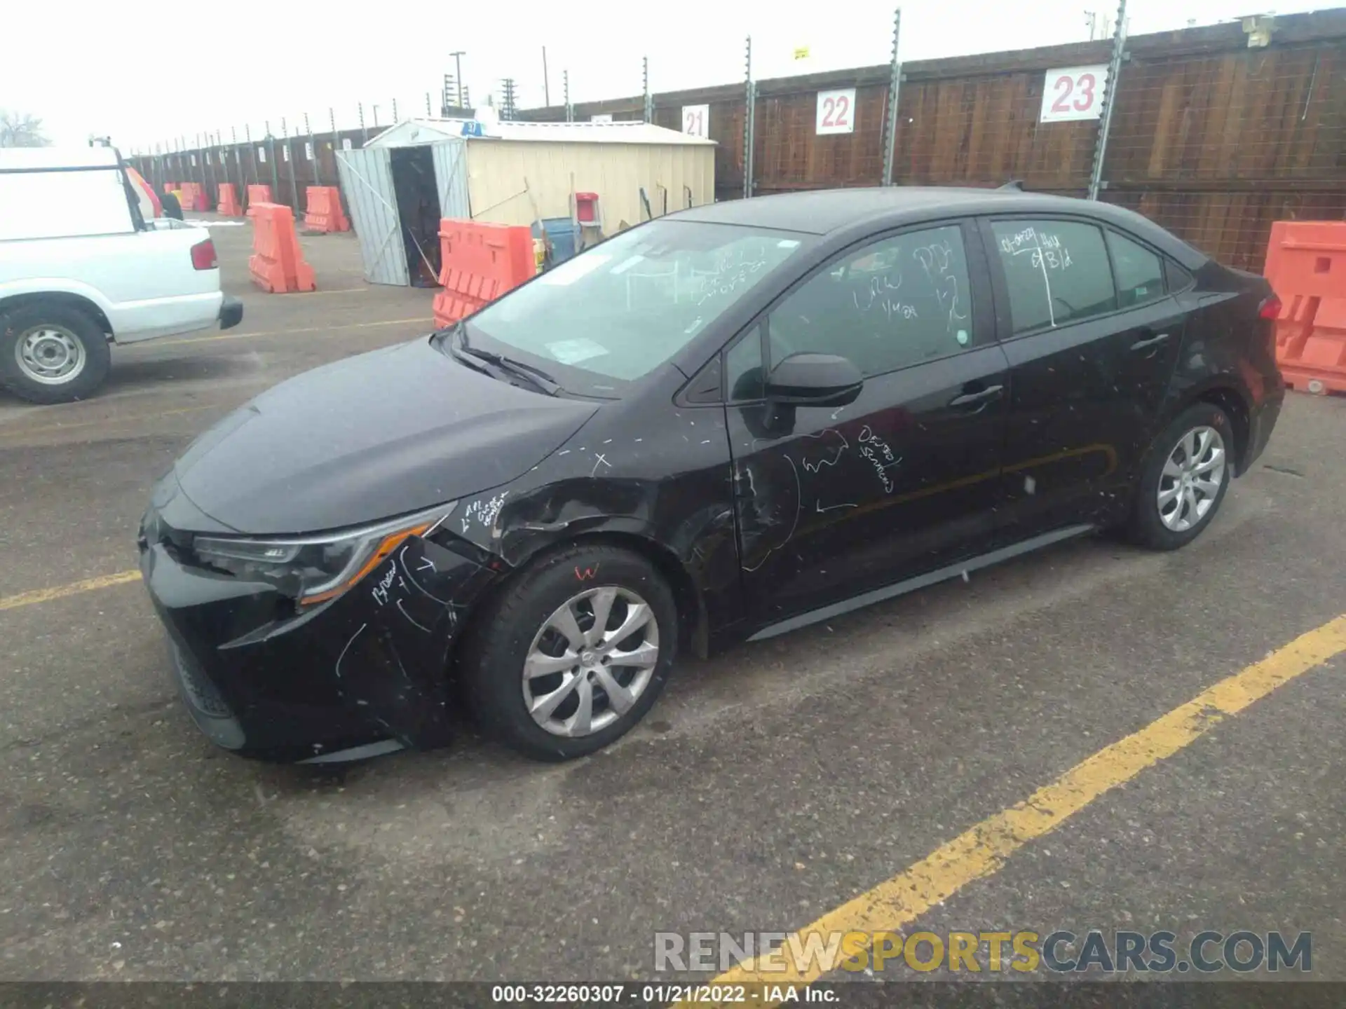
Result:
[[[791,962],[790,950],[806,950],[810,934],[826,942],[836,932],[891,932],[975,880],[996,873],[1005,858],[1034,838],[1061,826],[1110,788],[1201,739],[1225,717],[1237,714],[1281,683],[1346,651],[1346,615],[1300,635],[1261,662],[1202,690],[1187,704],[1075,764],[1018,806],[1001,810],[937,848],[915,865],[822,915],[786,940],[763,969],[760,958],[720,974],[713,985],[809,985],[821,977],[818,961]],[[781,970],[783,965],[785,970]],[[775,967],[774,970],[770,967]],[[763,1002],[774,1005],[777,1002]]]

